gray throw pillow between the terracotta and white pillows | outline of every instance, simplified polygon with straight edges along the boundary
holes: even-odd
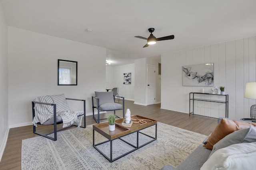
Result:
[[[224,137],[223,139],[218,141],[213,146],[212,152],[210,153],[208,159],[218,149],[222,149],[222,148],[225,148],[230,145],[237,144],[237,143],[251,143],[251,142],[256,142],[256,128],[255,127],[250,126],[250,128],[248,128],[248,129],[241,129],[238,131],[234,131],[233,133],[226,135],[226,137]]]

